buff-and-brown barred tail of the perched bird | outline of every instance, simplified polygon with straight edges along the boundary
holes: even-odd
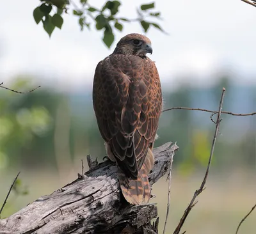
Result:
[[[148,149],[145,161],[138,172],[137,180],[129,180],[121,169],[118,171],[122,194],[129,203],[133,205],[148,203],[151,192],[150,184],[148,182],[148,173],[153,165],[154,155],[152,151]]]

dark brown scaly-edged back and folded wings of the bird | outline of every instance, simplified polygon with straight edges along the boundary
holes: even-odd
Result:
[[[155,141],[161,84],[150,59],[112,54],[97,65],[93,107],[100,134],[128,178],[136,179]]]

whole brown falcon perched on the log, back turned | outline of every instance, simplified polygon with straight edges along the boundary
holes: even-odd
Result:
[[[132,33],[100,61],[93,81],[93,108],[110,160],[118,166],[124,198],[148,203],[148,174],[162,110],[162,92],[150,40]]]

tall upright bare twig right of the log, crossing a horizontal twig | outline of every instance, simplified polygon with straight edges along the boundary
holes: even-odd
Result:
[[[188,217],[188,214],[189,212],[192,210],[192,208],[196,205],[195,203],[195,199],[196,197],[202,192],[204,191],[204,186],[205,186],[205,183],[206,183],[206,180],[207,180],[207,176],[208,176],[208,173],[209,173],[209,169],[210,169],[210,166],[211,166],[211,161],[212,161],[212,155],[213,155],[213,152],[214,152],[214,146],[215,146],[215,143],[216,143],[216,139],[217,139],[217,136],[218,136],[218,133],[219,133],[219,129],[220,129],[220,121],[221,121],[221,109],[222,109],[222,106],[223,106],[223,98],[224,98],[224,95],[225,95],[225,88],[222,89],[222,93],[221,93],[221,99],[220,99],[220,105],[219,105],[219,111],[218,111],[218,117],[217,117],[217,120],[216,120],[216,128],[215,128],[215,133],[214,133],[214,137],[213,137],[213,140],[212,140],[212,148],[211,148],[211,153],[210,153],[210,157],[209,157],[209,161],[208,161],[208,165],[207,165],[207,169],[205,171],[205,176],[204,176],[204,180],[203,182],[201,183],[201,186],[200,186],[200,189],[196,190],[195,193],[194,193],[194,196],[193,198],[191,199],[189,205],[188,205],[188,208],[186,208],[182,218],[180,219],[180,222],[177,226],[177,228],[175,229],[175,231],[173,232],[173,234],[179,234],[180,232],[180,229],[182,228],[186,218]]]

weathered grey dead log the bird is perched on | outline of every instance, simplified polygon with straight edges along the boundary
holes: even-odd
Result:
[[[150,185],[170,168],[179,147],[166,143],[154,148]],[[156,205],[131,206],[122,197],[117,169],[110,160],[100,163],[50,195],[0,220],[0,233],[136,233],[156,234]]]

